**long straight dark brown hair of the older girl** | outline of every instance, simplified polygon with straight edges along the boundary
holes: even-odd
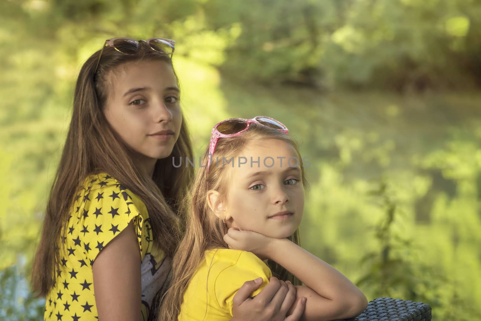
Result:
[[[54,286],[60,262],[59,242],[65,235],[69,209],[79,185],[93,173],[105,172],[135,193],[145,204],[152,223],[154,244],[173,256],[181,238],[180,201],[193,179],[193,168],[172,166],[172,157],[192,158],[190,136],[184,119],[170,157],[157,160],[152,177],[136,166],[136,155],[107,122],[102,111],[108,97],[109,75],[121,65],[136,61],[159,61],[172,66],[171,58],[140,42],[135,55],[106,47],[97,72],[100,50],[82,66],[78,75],[72,120],[62,157],[51,187],[42,235],[33,262],[32,287],[46,296]],[[172,66],[173,67],[173,66]],[[177,78],[177,75],[176,75]],[[178,79],[177,79],[178,85]]]

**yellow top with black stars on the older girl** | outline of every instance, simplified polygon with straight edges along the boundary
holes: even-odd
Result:
[[[155,293],[165,286],[171,259],[153,245],[152,226],[144,203],[106,173],[87,177],[74,198],[63,239],[65,249],[61,250],[61,264],[55,272],[55,286],[46,297],[44,320],[98,320],[92,265],[100,251],[130,221],[134,224],[141,257],[140,320],[147,320]]]

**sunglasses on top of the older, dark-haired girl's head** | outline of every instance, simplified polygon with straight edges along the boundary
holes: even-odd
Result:
[[[97,68],[99,67],[100,58],[102,56],[103,49],[105,49],[105,45],[114,47],[120,53],[125,55],[135,55],[140,51],[140,42],[145,42],[150,49],[157,51],[159,53],[164,53],[169,55],[172,58],[174,54],[174,46],[175,41],[166,38],[150,38],[148,40],[134,40],[131,38],[125,37],[117,37],[105,40],[102,50],[99,55],[99,60],[97,61],[97,65],[95,66],[94,74],[97,72]]]

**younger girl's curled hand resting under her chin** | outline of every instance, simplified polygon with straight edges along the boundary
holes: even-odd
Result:
[[[224,235],[224,241],[229,248],[249,251],[259,257],[268,259],[270,257],[270,246],[274,239],[253,231],[239,231],[231,227]]]

